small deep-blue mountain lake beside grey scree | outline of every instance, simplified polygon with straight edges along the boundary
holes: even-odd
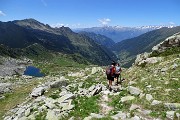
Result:
[[[24,75],[35,76],[35,77],[45,76],[43,73],[40,72],[39,68],[36,68],[34,66],[28,66],[24,71]]]

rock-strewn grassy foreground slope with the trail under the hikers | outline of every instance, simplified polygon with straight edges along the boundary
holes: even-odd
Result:
[[[42,78],[3,77],[3,83],[14,87],[12,93],[1,94],[1,116],[4,120],[178,120],[180,52],[169,50],[179,49],[179,41],[177,33],[153,48],[158,54],[138,55],[131,68],[123,69],[122,85],[114,82],[112,91],[106,87],[104,67],[98,66],[54,67],[53,74]]]

